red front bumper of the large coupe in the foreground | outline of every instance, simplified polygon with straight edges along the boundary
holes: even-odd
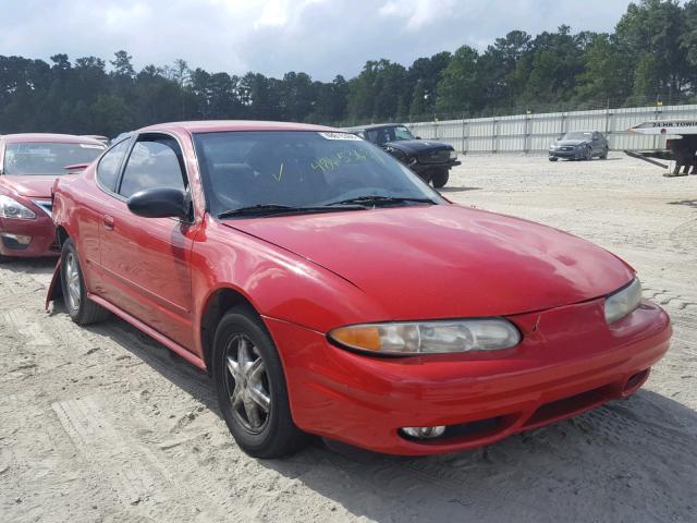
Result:
[[[634,393],[668,350],[670,319],[644,302],[609,328],[602,304],[511,317],[524,333],[511,350],[405,358],[355,354],[320,332],[265,320],[298,427],[378,452],[419,455],[488,445]],[[437,425],[453,428],[433,440],[400,434]]]

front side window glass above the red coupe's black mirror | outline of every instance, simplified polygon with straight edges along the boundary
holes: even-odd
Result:
[[[131,151],[119,194],[125,198],[151,187],[186,190],[182,151],[170,136],[140,136]]]

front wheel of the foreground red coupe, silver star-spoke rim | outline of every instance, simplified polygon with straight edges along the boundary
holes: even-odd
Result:
[[[291,416],[279,353],[254,312],[236,307],[223,316],[211,363],[220,411],[242,450],[272,459],[307,445]]]

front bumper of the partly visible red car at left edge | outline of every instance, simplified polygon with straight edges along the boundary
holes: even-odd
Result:
[[[37,211],[35,220],[14,220],[0,218],[0,255],[34,258],[57,256],[56,226],[49,216]],[[12,239],[13,235],[30,236],[23,245]]]

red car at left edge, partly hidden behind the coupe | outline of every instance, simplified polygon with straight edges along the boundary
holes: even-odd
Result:
[[[51,221],[53,181],[103,149],[101,142],[66,134],[0,136],[0,260],[60,254]]]

